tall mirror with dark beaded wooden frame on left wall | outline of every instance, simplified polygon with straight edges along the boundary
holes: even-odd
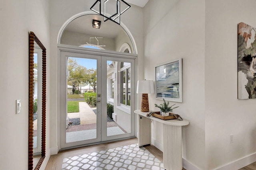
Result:
[[[42,45],[38,37],[33,32],[30,32],[28,170],[40,169],[46,155],[45,147],[46,48]],[[35,156],[38,158],[35,158]]]

